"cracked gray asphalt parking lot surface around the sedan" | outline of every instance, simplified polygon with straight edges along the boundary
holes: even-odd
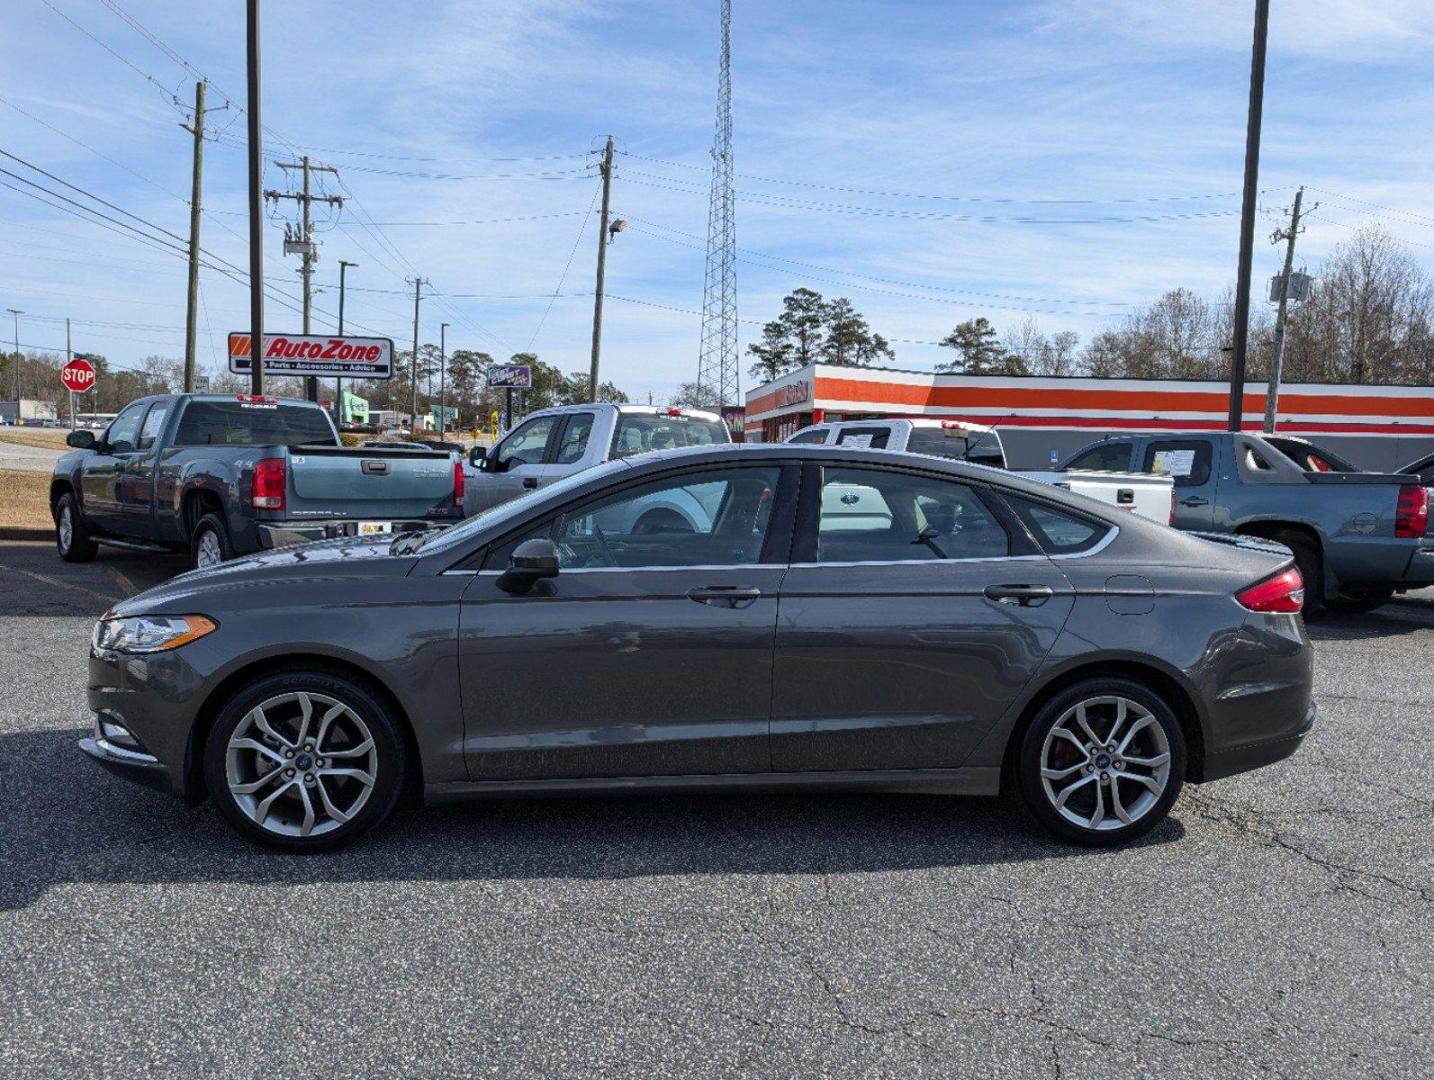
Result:
[[[3,1076],[1428,1074],[1434,595],[1319,624],[1302,752],[1124,851],[763,796],[285,858],[75,749],[95,618],[178,569],[0,544]]]

